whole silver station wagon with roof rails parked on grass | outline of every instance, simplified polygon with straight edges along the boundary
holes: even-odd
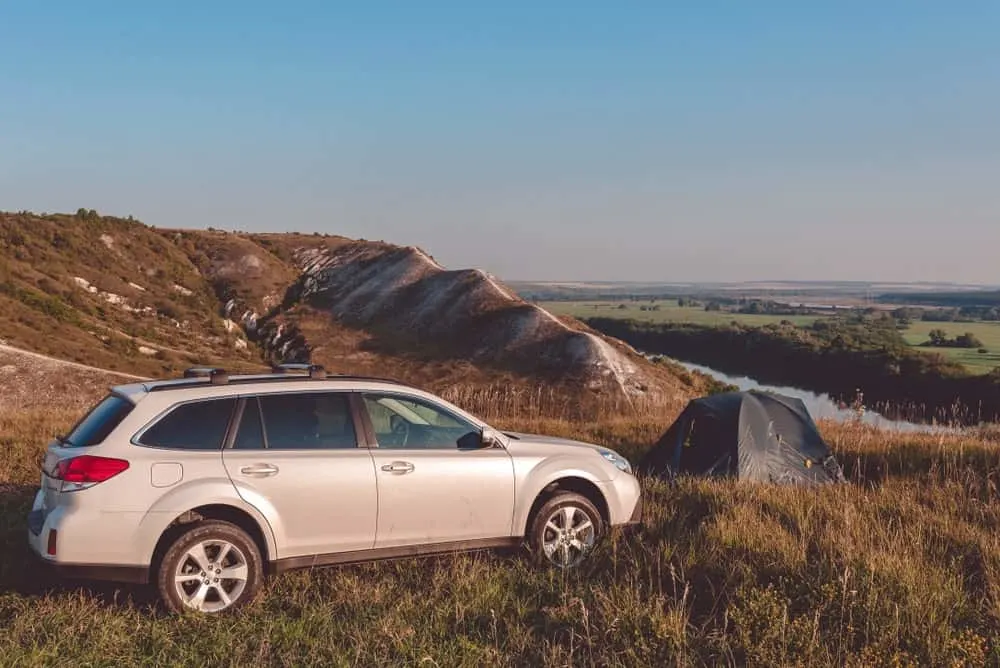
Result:
[[[501,433],[393,381],[284,365],[122,385],[49,445],[28,517],[65,575],[238,607],[265,573],[527,542],[560,568],[639,522],[606,448]]]

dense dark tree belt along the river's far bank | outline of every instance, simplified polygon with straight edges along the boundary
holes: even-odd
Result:
[[[587,324],[647,353],[704,364],[763,383],[824,392],[911,420],[1000,418],[1000,373],[970,375],[938,354],[918,352],[889,316],[852,315],[791,324],[706,326],[590,318]]]

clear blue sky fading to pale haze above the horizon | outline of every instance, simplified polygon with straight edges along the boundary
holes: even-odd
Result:
[[[0,209],[1000,283],[1000,2],[4,2]]]

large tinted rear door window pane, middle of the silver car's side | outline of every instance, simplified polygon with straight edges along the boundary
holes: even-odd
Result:
[[[358,447],[346,392],[271,394],[259,399],[269,450]]]

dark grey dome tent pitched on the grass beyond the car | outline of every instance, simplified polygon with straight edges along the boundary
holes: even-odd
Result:
[[[663,477],[735,476],[807,485],[844,480],[805,404],[758,391],[695,399],[638,468]]]

